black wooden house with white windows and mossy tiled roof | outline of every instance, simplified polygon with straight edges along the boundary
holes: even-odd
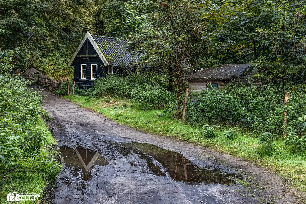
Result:
[[[73,80],[76,84],[86,84],[90,88],[95,79],[121,73],[132,66],[139,55],[126,51],[126,43],[125,40],[87,32],[68,64],[74,66]]]

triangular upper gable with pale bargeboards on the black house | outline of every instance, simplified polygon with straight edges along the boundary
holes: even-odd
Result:
[[[77,57],[99,57],[104,66],[108,65],[107,60],[89,32],[84,36],[73,57],[70,59],[68,66],[72,66]]]

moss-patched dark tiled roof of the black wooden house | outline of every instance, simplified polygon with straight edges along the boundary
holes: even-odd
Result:
[[[139,59],[139,55],[134,55],[131,52],[126,51],[126,40],[116,40],[112,37],[91,35],[87,32],[75,54],[71,58],[68,66],[73,64],[86,39],[89,40],[105,66],[130,66],[133,62]]]

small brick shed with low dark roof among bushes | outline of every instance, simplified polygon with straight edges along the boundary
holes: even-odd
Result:
[[[205,90],[207,83],[210,83],[213,88],[222,88],[232,81],[244,84],[253,81],[256,85],[262,86],[261,81],[255,79],[254,74],[251,64],[222,64],[217,68],[209,67],[192,74],[188,85],[196,92]]]

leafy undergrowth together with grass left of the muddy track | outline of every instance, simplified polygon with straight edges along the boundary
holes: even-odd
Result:
[[[41,119],[47,117],[41,107],[42,96],[28,89],[28,82],[19,75],[7,74],[14,65],[10,52],[2,53],[1,57],[0,189],[41,193],[45,184],[56,180],[62,168],[56,150],[50,146],[56,141]],[[31,182],[41,184],[35,187]]]

